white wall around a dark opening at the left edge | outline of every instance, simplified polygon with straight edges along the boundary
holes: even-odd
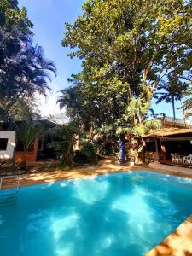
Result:
[[[8,139],[6,150],[0,150],[0,159],[13,159],[15,148],[15,131],[0,131],[0,138]]]

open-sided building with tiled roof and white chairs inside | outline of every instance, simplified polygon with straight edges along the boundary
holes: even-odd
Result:
[[[192,166],[192,129],[164,127],[143,137],[146,157],[171,165]]]

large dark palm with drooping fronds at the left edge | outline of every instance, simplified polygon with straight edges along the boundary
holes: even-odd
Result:
[[[4,65],[4,77],[0,84],[0,119],[1,113],[9,113],[17,101],[32,100],[35,93],[46,95],[51,81],[50,73],[55,73],[53,61],[44,57],[44,49],[28,40],[26,46],[15,56],[12,63]]]

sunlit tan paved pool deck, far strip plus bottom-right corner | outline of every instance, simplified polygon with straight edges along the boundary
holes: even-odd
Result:
[[[71,170],[45,171],[20,175],[20,187],[38,183],[51,183],[64,179],[89,177],[115,172],[134,171],[160,172],[178,177],[192,178],[192,169],[151,163],[148,166],[120,166],[111,160],[104,160],[98,166],[86,166]],[[13,179],[6,177],[3,189],[13,188]],[[192,202],[190,202],[192,204]],[[154,247],[146,256],[192,256],[192,215],[181,224],[170,236]]]

